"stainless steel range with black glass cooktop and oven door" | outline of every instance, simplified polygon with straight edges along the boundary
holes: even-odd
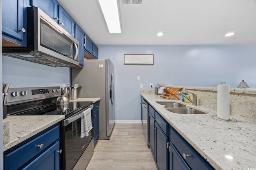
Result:
[[[70,102],[68,107],[56,105],[60,87],[9,88],[7,115],[65,115],[61,122],[62,169],[86,168],[94,151],[93,129],[81,137],[81,117],[91,109],[91,102]],[[92,125],[93,126],[93,125]]]

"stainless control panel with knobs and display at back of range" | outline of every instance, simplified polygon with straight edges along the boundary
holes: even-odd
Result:
[[[60,87],[28,87],[9,88],[7,92],[7,105],[19,104],[33,100],[54,98],[61,95]]]

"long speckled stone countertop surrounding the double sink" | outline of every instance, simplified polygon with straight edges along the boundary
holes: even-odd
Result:
[[[184,102],[174,97],[166,100],[154,94],[154,90],[141,90],[141,95],[216,170],[256,169],[256,123],[234,116],[230,118],[238,122],[219,121],[212,118],[217,115],[216,111],[191,104],[187,107],[207,114],[172,113],[156,101]],[[233,159],[226,158],[226,155]]]

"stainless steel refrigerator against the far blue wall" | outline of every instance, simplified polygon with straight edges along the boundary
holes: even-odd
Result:
[[[84,60],[84,68],[72,68],[72,84],[82,86],[78,98],[100,98],[99,140],[110,139],[116,120],[114,70],[110,59]]]

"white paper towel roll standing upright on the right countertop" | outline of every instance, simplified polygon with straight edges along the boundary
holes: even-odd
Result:
[[[230,110],[230,86],[228,84],[218,84],[217,89],[217,117],[229,120]]]

